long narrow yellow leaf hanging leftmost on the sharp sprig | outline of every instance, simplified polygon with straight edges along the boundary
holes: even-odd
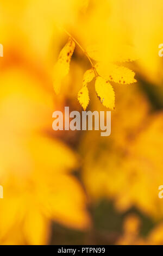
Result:
[[[69,38],[67,44],[62,48],[59,54],[58,62],[54,66],[53,86],[56,94],[59,94],[61,81],[70,70],[71,57],[75,46],[75,42]]]

